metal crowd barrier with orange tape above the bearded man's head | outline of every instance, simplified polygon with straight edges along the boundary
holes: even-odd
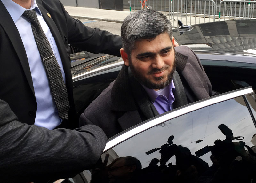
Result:
[[[162,12],[174,27],[178,27],[177,20],[189,25],[215,21],[214,0],[130,0],[129,3],[130,11],[152,8]]]

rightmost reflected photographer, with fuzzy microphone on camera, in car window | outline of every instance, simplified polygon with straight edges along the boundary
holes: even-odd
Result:
[[[211,151],[218,161],[220,167],[214,173],[211,182],[255,182],[256,156],[253,150],[245,145],[245,142],[232,142],[233,140],[242,140],[244,137],[234,137],[232,130],[226,125],[221,124],[218,128],[226,136],[226,139],[223,141],[218,139],[214,141],[214,146],[206,146],[195,152],[196,156],[200,157]],[[244,147],[248,149],[248,153]]]

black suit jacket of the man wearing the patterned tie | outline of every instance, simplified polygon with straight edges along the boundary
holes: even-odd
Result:
[[[75,120],[69,45],[93,53],[120,56],[121,37],[98,28],[84,26],[71,18],[59,0],[36,0],[42,16],[56,41],[63,64],[68,99],[69,120]],[[50,13],[51,18],[47,13]],[[6,101],[20,122],[34,124],[37,103],[28,59],[20,34],[0,1],[0,99]]]

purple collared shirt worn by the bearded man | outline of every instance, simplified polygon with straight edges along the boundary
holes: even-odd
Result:
[[[173,92],[175,90],[173,80],[168,86],[157,91],[153,89],[149,89],[145,86],[143,86],[143,88],[146,90],[151,102],[154,104],[159,114],[163,114],[164,112],[167,112],[173,109],[172,103],[175,100],[173,95]]]

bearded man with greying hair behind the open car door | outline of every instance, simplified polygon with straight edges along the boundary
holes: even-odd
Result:
[[[108,138],[158,114],[213,95],[196,54],[174,49],[172,26],[162,13],[136,11],[121,27],[124,65],[115,81],[80,116]]]

